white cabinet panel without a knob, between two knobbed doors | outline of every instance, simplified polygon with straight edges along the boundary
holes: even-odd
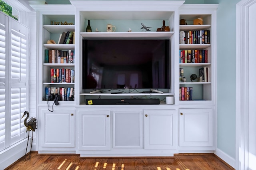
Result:
[[[142,111],[113,111],[113,148],[142,148]]]

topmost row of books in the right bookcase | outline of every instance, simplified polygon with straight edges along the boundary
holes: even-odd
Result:
[[[180,31],[180,44],[209,44],[210,30]]]

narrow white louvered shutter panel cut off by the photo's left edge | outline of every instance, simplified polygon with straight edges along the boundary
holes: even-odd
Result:
[[[6,24],[8,24],[8,17],[0,15],[0,150],[6,146]]]

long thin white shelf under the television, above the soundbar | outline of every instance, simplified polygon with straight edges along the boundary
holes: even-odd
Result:
[[[80,93],[80,96],[159,96],[159,95],[174,95],[174,93]]]

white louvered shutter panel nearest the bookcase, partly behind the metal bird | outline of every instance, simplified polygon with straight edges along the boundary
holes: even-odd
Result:
[[[11,26],[11,143],[25,137],[21,117],[26,111],[27,30],[15,20]]]

